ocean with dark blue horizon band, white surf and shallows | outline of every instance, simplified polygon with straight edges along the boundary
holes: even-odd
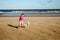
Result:
[[[58,11],[58,13],[47,13],[48,11]],[[47,16],[47,17],[60,17],[60,9],[20,9],[20,10],[0,10],[0,16],[20,16],[22,12],[25,12],[25,16],[30,17],[41,17],[41,16]],[[30,13],[29,13],[30,12]],[[33,13],[32,13],[33,12]],[[38,13],[35,13],[38,12]],[[45,12],[45,13],[40,13]]]

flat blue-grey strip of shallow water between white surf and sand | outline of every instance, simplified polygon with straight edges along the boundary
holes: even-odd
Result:
[[[2,16],[19,16],[21,15],[21,13],[4,13]],[[60,16],[60,14],[56,14],[56,13],[25,13],[25,16]]]

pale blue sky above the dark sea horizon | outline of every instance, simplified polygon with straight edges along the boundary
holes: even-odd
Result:
[[[60,9],[60,0],[0,0],[0,9]]]

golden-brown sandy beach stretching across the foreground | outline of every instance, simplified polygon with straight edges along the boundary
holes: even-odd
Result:
[[[25,17],[28,28],[15,28],[19,17],[0,17],[0,40],[60,40],[60,17]]]

